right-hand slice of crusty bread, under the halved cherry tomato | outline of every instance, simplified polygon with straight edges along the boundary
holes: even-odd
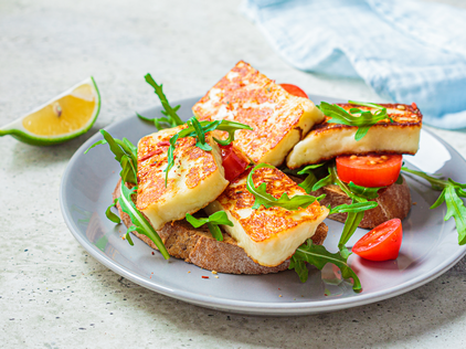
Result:
[[[293,179],[298,182],[301,181],[296,177],[293,177]],[[335,184],[320,188],[310,194],[315,197],[326,194],[325,199],[320,200],[320,204],[330,204],[332,208],[343,203],[351,203],[351,199],[348,198],[340,187]],[[410,188],[404,178],[401,184],[394,183],[380,190],[379,198],[371,201],[377,201],[379,205],[372,210],[366,211],[359,228],[372,229],[394,218],[402,220],[407,215],[412,205]],[[335,213],[330,214],[328,218],[335,221],[345,222],[347,215],[348,213]]]

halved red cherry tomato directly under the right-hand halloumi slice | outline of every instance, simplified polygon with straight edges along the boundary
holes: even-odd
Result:
[[[401,155],[364,155],[337,157],[338,177],[343,182],[362,187],[386,187],[400,176]]]

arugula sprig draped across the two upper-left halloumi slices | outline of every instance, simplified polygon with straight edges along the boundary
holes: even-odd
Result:
[[[227,146],[230,142],[234,140],[234,131],[237,129],[253,129],[251,126],[230,121],[230,120],[215,120],[215,121],[199,121],[195,116],[190,118],[187,121],[188,127],[180,130],[178,134],[173,135],[170,138],[170,147],[168,148],[168,163],[167,168],[163,170],[166,172],[166,179],[165,179],[165,186],[167,187],[168,183],[168,172],[174,165],[174,147],[177,144],[177,140],[179,138],[184,137],[194,137],[197,138],[195,146],[198,148],[201,148],[202,150],[210,151],[212,150],[212,147],[205,141],[205,134],[213,131],[213,130],[223,130],[229,133],[229,138],[225,140],[219,140],[216,138],[213,138],[216,142],[223,146]]]

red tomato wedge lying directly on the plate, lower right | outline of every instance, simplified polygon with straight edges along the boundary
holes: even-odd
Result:
[[[382,262],[396,260],[403,239],[399,219],[386,221],[362,236],[352,246],[352,252],[364,260]]]

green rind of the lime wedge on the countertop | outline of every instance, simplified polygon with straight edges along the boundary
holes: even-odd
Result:
[[[11,136],[17,138],[18,140],[25,142],[28,145],[32,145],[32,146],[53,146],[53,145],[59,145],[65,141],[68,141],[73,138],[76,138],[81,135],[84,135],[85,133],[87,133],[93,125],[95,124],[98,114],[100,113],[100,93],[98,91],[97,84],[95,83],[95,80],[93,76],[91,76],[91,80],[93,82],[95,92],[97,94],[97,110],[95,112],[94,118],[93,120],[89,123],[89,125],[87,125],[85,128],[82,128],[71,135],[66,135],[63,137],[41,137],[41,136],[33,136],[32,134],[19,130],[19,129],[6,129],[6,130],[1,130],[0,129],[0,137],[1,136]]]

